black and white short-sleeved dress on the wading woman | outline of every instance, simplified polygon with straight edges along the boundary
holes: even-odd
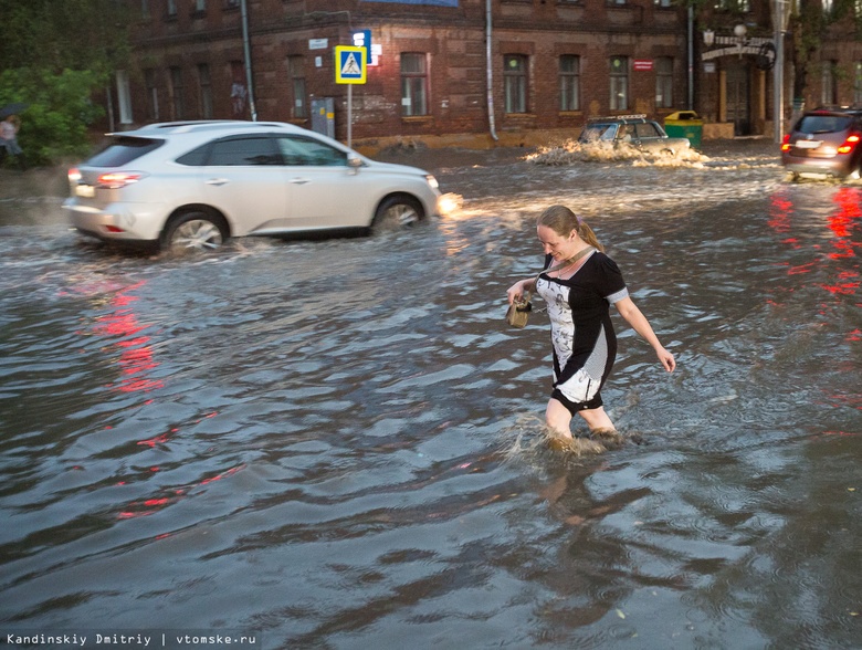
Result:
[[[545,259],[545,269],[554,263]],[[572,413],[602,406],[601,387],[617,357],[610,305],[628,297],[617,263],[592,252],[566,280],[543,272],[536,293],[548,305],[554,346],[554,392]]]

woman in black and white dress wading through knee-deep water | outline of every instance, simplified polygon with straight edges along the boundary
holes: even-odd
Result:
[[[513,284],[506,295],[512,305],[535,292],[547,304],[554,389],[545,422],[551,447],[576,447],[570,429],[575,415],[584,418],[593,441],[617,447],[622,438],[601,399],[617,355],[610,305],[653,347],[665,370],[672,373],[676,361],[632,302],[617,263],[582,219],[565,206],[553,206],[539,216],[536,232],[545,252],[544,270]]]

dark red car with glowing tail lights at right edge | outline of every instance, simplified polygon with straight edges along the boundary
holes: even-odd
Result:
[[[806,112],[781,144],[781,164],[800,176],[859,178],[862,108],[822,107]]]

